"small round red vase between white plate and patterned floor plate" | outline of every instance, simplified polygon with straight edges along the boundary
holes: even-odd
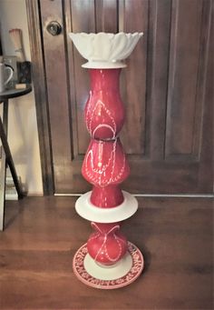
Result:
[[[127,240],[118,232],[118,223],[100,224],[92,222],[96,230],[87,242],[89,255],[102,265],[114,265],[127,251]]]

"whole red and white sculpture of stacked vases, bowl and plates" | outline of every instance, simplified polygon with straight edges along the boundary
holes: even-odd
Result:
[[[142,34],[70,34],[73,44],[89,68],[91,91],[84,118],[91,143],[83,160],[83,177],[92,192],[82,195],[75,208],[92,221],[95,232],[73,258],[73,271],[86,285],[117,288],[130,284],[140,274],[140,250],[120,233],[120,223],[133,215],[137,200],[123,192],[120,184],[130,173],[118,137],[124,123],[124,107],[119,90],[122,62]]]

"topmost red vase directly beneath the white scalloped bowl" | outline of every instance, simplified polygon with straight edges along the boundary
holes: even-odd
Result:
[[[90,135],[96,139],[114,139],[124,122],[119,90],[121,69],[90,69],[91,91],[84,117]]]

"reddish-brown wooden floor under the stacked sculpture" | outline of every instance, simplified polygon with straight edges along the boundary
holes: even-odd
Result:
[[[116,290],[83,285],[75,251],[91,233],[73,197],[6,204],[0,234],[0,309],[213,309],[213,201],[141,198],[122,231],[141,248],[146,268]]]

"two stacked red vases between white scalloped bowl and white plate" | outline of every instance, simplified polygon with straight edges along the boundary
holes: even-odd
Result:
[[[124,123],[120,73],[121,69],[90,69],[91,91],[84,116],[92,140],[84,157],[82,173],[93,185],[91,202],[98,207],[122,204],[122,190],[118,185],[130,173],[117,137]]]

